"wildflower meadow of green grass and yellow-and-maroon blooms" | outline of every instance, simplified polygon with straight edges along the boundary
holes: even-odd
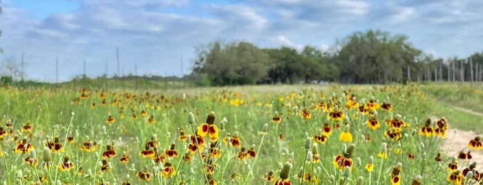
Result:
[[[452,86],[1,87],[0,181],[480,184],[479,137],[439,148],[483,125],[447,106],[480,86]]]

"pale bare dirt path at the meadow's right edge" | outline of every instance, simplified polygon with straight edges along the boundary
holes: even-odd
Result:
[[[470,113],[472,115],[478,115],[483,117],[483,113],[477,113],[473,110],[469,110],[467,108],[462,108],[458,106],[452,106],[452,105],[447,105],[450,106],[451,108],[454,108],[455,110],[461,110],[466,113]],[[432,118],[433,119],[433,118]],[[439,119],[439,118],[437,118]],[[436,119],[436,120],[437,120]],[[463,151],[464,153],[467,153],[468,150],[471,151],[471,156],[473,157],[468,164],[471,164],[473,162],[476,162],[477,169],[480,169],[483,167],[483,153],[481,151],[475,150],[468,148],[468,142],[470,142],[471,139],[474,139],[477,136],[475,132],[472,130],[456,130],[454,128],[451,128],[451,125],[448,126],[448,130],[446,130],[446,138],[443,140],[441,148],[443,152],[448,155],[448,156],[455,156],[457,157],[458,153],[460,151]],[[460,168],[465,168],[466,166],[459,166]]]

